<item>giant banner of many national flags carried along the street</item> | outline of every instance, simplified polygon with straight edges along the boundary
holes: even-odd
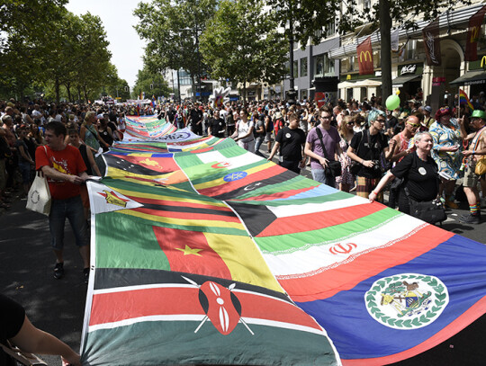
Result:
[[[84,364],[381,365],[484,314],[481,243],[229,138],[127,131],[88,183]]]

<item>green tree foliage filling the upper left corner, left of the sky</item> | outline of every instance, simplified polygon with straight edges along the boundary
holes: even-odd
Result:
[[[24,91],[44,85],[46,95],[56,100],[87,101],[118,83],[101,19],[69,13],[66,3],[7,0],[0,5],[3,96],[22,98]]]

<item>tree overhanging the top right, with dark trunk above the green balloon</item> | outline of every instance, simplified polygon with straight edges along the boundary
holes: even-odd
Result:
[[[367,23],[371,24],[372,31],[379,30],[383,95],[392,94],[392,24],[410,29],[417,26],[414,22],[417,19],[432,20],[441,10],[470,3],[469,0],[377,0],[371,8],[367,8],[358,7],[357,0],[328,0],[325,6],[319,1],[267,0],[275,19],[286,29],[287,36],[292,37],[290,40],[294,37],[300,41],[302,47],[310,39],[314,44],[319,43],[321,36],[318,31],[326,30],[334,22],[340,33],[355,31]]]

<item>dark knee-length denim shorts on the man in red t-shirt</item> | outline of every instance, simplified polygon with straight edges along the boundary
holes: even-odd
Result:
[[[55,250],[64,246],[64,224],[66,219],[73,229],[76,245],[88,245],[87,221],[81,196],[67,198],[66,200],[52,200],[49,214],[50,245]]]

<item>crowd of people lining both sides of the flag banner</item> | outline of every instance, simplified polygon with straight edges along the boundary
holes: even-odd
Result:
[[[387,204],[404,213],[411,214],[411,202],[437,197],[446,207],[457,208],[455,193],[461,180],[469,213],[460,221],[478,224],[481,195],[486,193],[484,174],[475,169],[486,156],[484,94],[477,103],[470,112],[447,105],[432,111],[417,100],[389,111],[374,96],[362,103],[339,100],[318,106],[313,101],[254,101],[221,108],[193,102],[139,106],[0,101],[0,208],[10,208],[14,192],[25,197],[35,172],[41,171],[52,196],[49,229],[56,256],[54,277],[64,275],[63,232],[68,219],[87,282],[85,180],[104,174],[101,154],[123,138],[125,115],[157,115],[179,129],[233,138],[247,151],[266,153],[268,160],[278,156],[278,164],[296,174],[310,167],[314,180],[344,192],[356,191],[370,201],[383,201],[383,191],[389,190]],[[10,299],[0,300],[18,315],[5,340],[32,352],[62,354],[78,364],[79,355],[31,326],[22,307]],[[44,344],[32,344],[31,339]]]

